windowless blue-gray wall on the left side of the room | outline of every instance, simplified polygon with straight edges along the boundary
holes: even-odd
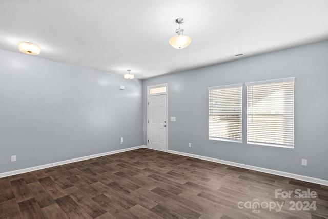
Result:
[[[142,84],[0,50],[0,173],[142,145]]]

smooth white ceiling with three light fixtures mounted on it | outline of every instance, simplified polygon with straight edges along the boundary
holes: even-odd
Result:
[[[0,0],[0,49],[33,42],[38,57],[140,79],[324,39],[327,0]]]

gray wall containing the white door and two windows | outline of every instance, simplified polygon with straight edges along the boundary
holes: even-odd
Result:
[[[208,87],[285,77],[296,77],[294,149],[246,143],[245,88],[243,143],[209,140]],[[168,83],[168,116],[176,117],[168,123],[169,150],[328,180],[328,41],[145,80],[145,145],[147,86],[161,83]]]

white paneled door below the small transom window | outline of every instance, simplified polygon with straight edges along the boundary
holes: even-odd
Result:
[[[167,151],[167,95],[149,96],[148,147]]]

